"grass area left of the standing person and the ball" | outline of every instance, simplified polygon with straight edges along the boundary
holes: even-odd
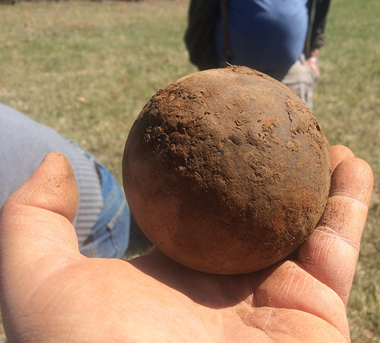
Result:
[[[0,11],[0,101],[77,140],[120,180],[142,106],[196,70],[182,41],[187,3],[64,1]]]

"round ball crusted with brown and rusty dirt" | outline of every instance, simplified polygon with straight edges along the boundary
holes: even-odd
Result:
[[[146,236],[184,266],[218,274],[287,257],[323,213],[330,149],[298,96],[251,68],[182,77],[144,106],[123,179]]]

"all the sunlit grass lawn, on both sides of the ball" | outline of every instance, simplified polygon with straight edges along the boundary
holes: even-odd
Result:
[[[0,6],[0,102],[77,140],[121,181],[133,120],[162,86],[196,71],[187,0]],[[374,194],[348,304],[352,342],[380,342],[380,6],[332,1],[314,113],[330,144],[370,163]]]

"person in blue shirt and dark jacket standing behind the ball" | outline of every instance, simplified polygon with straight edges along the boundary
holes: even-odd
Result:
[[[185,41],[200,68],[249,66],[312,108],[330,0],[191,0]]]

